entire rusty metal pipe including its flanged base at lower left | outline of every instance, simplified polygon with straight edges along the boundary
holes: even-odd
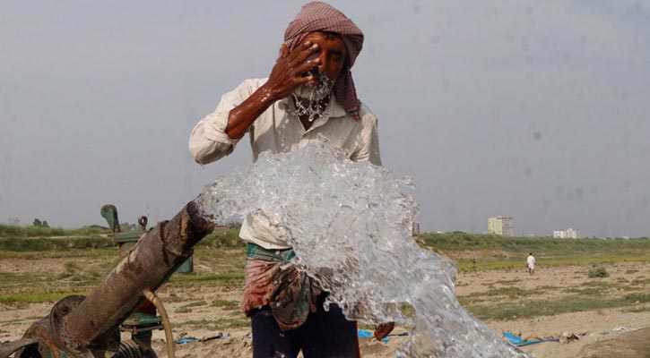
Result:
[[[48,317],[28,328],[20,345],[0,346],[0,358],[16,349],[31,349],[35,342],[39,352],[49,350],[55,358],[58,350],[74,358],[113,356],[119,325],[143,302],[143,293],[165,283],[192,255],[195,243],[213,229],[196,202],[190,201],[171,220],[143,235],[91,294],[65,297]]]

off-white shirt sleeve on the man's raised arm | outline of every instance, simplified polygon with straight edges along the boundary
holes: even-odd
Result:
[[[204,119],[195,125],[189,137],[189,151],[196,163],[208,164],[219,160],[230,153],[237,146],[238,139],[230,139],[226,134],[230,110],[237,107],[259,85],[255,80],[243,81],[235,90],[221,97],[219,105]]]

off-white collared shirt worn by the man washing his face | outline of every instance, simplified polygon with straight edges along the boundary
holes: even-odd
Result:
[[[229,155],[237,146],[226,134],[230,110],[241,104],[259,89],[267,79],[243,81],[235,90],[221,97],[219,106],[195,125],[189,140],[189,150],[197,163],[207,164]],[[368,160],[381,166],[377,117],[361,105],[360,121],[356,121],[338,104],[334,96],[325,112],[306,131],[299,118],[292,115],[290,98],[273,103],[248,129],[253,161],[265,150],[273,153],[298,150],[319,135],[325,136],[335,147],[347,152],[354,161]],[[251,213],[244,219],[239,237],[268,250],[290,248],[277,213]]]

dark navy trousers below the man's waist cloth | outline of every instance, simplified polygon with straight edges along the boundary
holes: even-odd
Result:
[[[305,324],[281,332],[273,312],[264,306],[250,315],[253,329],[253,358],[295,358],[299,351],[305,358],[357,358],[357,322],[345,320],[341,309],[317,304]]]

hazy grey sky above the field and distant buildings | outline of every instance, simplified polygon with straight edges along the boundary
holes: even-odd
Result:
[[[221,95],[273,68],[298,1],[0,3],[0,223],[169,219],[247,141],[199,166]],[[422,231],[650,236],[650,1],[332,1],[352,74]]]

